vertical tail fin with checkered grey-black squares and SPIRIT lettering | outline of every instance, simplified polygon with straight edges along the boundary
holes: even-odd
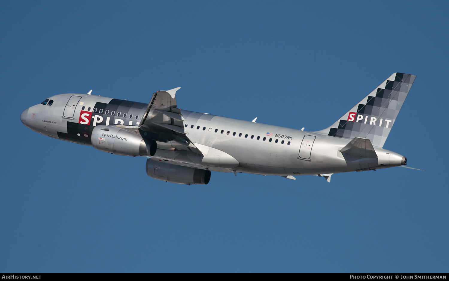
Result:
[[[348,140],[367,138],[383,147],[415,78],[393,73],[332,126],[315,133]]]

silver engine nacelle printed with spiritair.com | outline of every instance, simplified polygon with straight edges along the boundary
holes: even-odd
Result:
[[[153,156],[155,141],[116,126],[98,125],[92,130],[92,146],[98,150],[125,156]]]

